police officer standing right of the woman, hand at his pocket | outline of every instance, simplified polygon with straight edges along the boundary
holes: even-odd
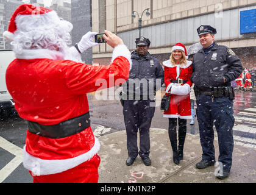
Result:
[[[202,146],[202,160],[196,164],[196,168],[204,169],[215,165],[215,124],[219,143],[219,171],[215,176],[224,179],[229,176],[232,165],[232,128],[235,122],[235,93],[230,82],[240,76],[243,67],[232,49],[215,43],[215,28],[202,25],[198,27],[197,33],[203,48],[194,55],[191,76],[196,94],[196,115]]]

